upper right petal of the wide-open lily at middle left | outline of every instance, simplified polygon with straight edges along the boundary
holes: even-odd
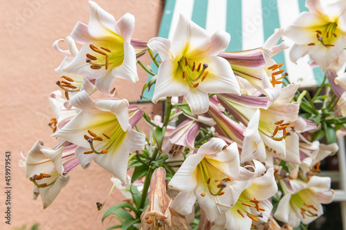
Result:
[[[100,100],[95,104],[95,107],[101,111],[109,111],[115,114],[123,131],[126,131],[129,126],[129,112],[127,106],[129,106],[127,99]]]

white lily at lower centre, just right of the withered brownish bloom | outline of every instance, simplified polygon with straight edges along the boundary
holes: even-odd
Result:
[[[239,174],[237,144],[230,146],[219,138],[203,144],[196,154],[186,158],[173,176],[168,187],[179,191],[172,202],[172,209],[188,215],[194,202],[214,221],[237,202],[239,188],[228,186]]]

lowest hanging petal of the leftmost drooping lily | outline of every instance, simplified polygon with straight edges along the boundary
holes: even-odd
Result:
[[[70,175],[68,173],[62,173],[57,180],[51,186],[39,189],[39,194],[42,197],[42,203],[44,209],[53,203],[57,195],[60,193],[62,188],[69,183]]]

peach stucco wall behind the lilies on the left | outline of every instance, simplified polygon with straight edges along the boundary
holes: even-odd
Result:
[[[96,0],[105,10],[119,19],[126,12],[136,17],[134,38],[147,41],[155,37],[161,20],[162,0]],[[39,223],[39,229],[107,229],[114,220],[101,224],[102,211],[97,211],[95,202],[102,202],[111,188],[110,173],[97,164],[83,171],[78,166],[69,174],[71,180],[55,202],[42,209],[41,198],[31,200],[33,184],[24,177],[19,168],[20,151],[30,150],[37,139],[46,146],[55,140],[49,136],[47,126],[53,111],[48,103],[48,94],[57,90],[59,76],[54,69],[62,56],[52,48],[53,41],[71,33],[77,21],[89,22],[89,5],[86,0],[48,1],[17,0],[1,1],[0,8],[0,229],[14,229],[26,224]],[[66,48],[66,46],[64,46]],[[145,64],[150,60],[143,58]],[[140,88],[147,75],[139,70],[140,81],[131,84],[117,79],[117,97],[129,101],[139,99]],[[146,111],[152,105],[140,105]],[[145,127],[144,122],[141,124]],[[146,127],[145,127],[146,128]],[[5,224],[5,152],[11,151],[12,219]],[[122,200],[122,195],[113,192],[107,207]],[[107,208],[106,207],[106,208]]]

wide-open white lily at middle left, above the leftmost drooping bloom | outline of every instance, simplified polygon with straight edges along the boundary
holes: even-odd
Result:
[[[143,111],[127,108],[126,99],[94,102],[85,91],[73,96],[71,104],[82,111],[52,137],[77,144],[75,155],[83,167],[94,160],[127,184],[129,152],[145,145],[145,135],[132,129]]]

